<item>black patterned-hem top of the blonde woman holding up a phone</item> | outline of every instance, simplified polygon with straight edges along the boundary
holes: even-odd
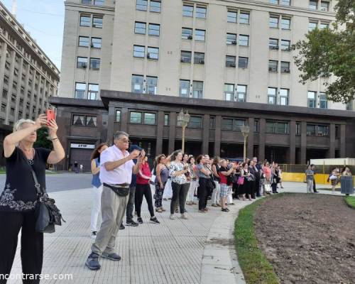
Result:
[[[35,148],[32,168],[41,187],[45,188],[45,164],[50,150]],[[24,158],[23,158],[24,157]],[[0,196],[0,211],[26,212],[35,209],[37,191],[26,155],[16,147],[6,158],[6,182]]]

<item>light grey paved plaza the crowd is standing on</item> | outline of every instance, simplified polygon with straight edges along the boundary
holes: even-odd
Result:
[[[53,187],[50,184],[61,175],[54,176],[48,175],[49,187]],[[85,180],[88,175],[78,176]],[[65,185],[77,177],[62,175],[62,178]],[[285,191],[305,192],[303,183],[285,182],[284,186]],[[170,220],[168,212],[157,213],[158,225],[148,222],[148,208],[143,203],[144,224],[126,226],[119,231],[116,251],[122,260],[117,263],[100,259],[102,269],[89,271],[84,262],[92,244],[89,237],[91,189],[60,190],[50,196],[55,198],[67,222],[58,226],[55,234],[45,234],[43,274],[70,274],[72,280],[51,279],[41,283],[245,283],[236,260],[232,234],[239,209],[251,202],[236,200],[229,213],[209,207],[207,214],[201,214],[197,206],[187,206],[188,220]],[[168,209],[170,201],[163,205]],[[18,246],[13,274],[21,273],[19,249]]]

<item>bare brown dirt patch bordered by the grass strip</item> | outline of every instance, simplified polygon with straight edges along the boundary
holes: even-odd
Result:
[[[342,197],[273,198],[258,208],[254,226],[281,283],[355,283],[355,210]]]

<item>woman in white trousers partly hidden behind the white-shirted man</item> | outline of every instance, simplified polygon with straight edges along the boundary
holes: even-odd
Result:
[[[101,210],[101,194],[102,194],[102,182],[100,181],[100,155],[109,146],[107,143],[101,143],[92,152],[91,155],[91,172],[92,172],[92,209],[91,209],[91,238],[96,239],[97,235],[97,218]]]

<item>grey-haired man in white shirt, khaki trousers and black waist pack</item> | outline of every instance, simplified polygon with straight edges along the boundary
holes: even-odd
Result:
[[[100,180],[104,185],[101,199],[102,224],[92,244],[92,253],[85,263],[92,270],[101,268],[99,256],[111,261],[121,260],[121,256],[114,252],[116,235],[126,212],[132,173],[138,173],[142,162],[141,151],[129,153],[128,148],[129,135],[119,131],[114,134],[114,145],[100,155]],[[137,159],[136,165],[133,159]]]

